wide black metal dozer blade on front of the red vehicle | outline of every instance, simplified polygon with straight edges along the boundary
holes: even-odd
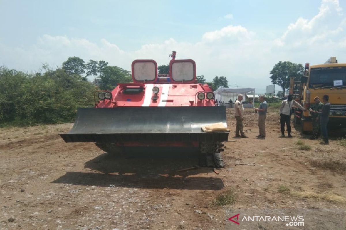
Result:
[[[80,108],[65,142],[227,141],[228,132],[203,132],[202,125],[222,122],[226,108],[116,107]]]

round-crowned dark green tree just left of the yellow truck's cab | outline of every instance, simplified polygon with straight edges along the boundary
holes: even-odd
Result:
[[[270,71],[270,74],[272,74],[270,76],[272,83],[281,86],[284,97],[285,89],[290,87],[290,77],[300,79],[304,75],[304,67],[302,64],[295,64],[290,61],[279,61]]]

